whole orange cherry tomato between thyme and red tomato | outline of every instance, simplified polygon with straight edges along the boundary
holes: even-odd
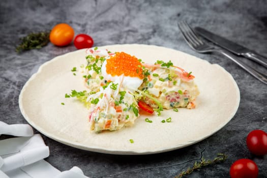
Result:
[[[56,46],[67,46],[74,37],[74,29],[67,23],[60,23],[53,27],[50,32],[50,42]]]

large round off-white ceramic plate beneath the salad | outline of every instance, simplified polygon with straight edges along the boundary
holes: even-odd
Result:
[[[124,51],[146,63],[171,60],[174,65],[192,71],[200,95],[195,109],[165,110],[161,116],[141,115],[133,127],[119,131],[92,133],[88,110],[74,98],[65,98],[71,90],[85,90],[82,74],[71,69],[86,64],[85,50],[57,56],[43,64],[24,85],[19,107],[26,121],[44,135],[78,149],[120,155],[167,152],[201,141],[224,127],[234,116],[240,102],[238,85],[222,67],[181,51],[159,46],[110,45],[110,51]],[[62,105],[61,103],[65,103]],[[161,123],[172,118],[171,123]],[[134,143],[130,143],[133,139]]]

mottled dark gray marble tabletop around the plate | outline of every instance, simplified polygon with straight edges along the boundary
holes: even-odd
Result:
[[[254,129],[267,131],[267,85],[253,78],[230,60],[216,54],[191,50],[177,28],[177,21],[202,26],[221,36],[267,55],[267,1],[0,1],[0,121],[27,123],[18,106],[22,86],[40,65],[76,50],[73,44],[15,52],[19,38],[31,32],[69,23],[75,33],[85,33],[95,46],[110,44],[159,45],[219,64],[235,79],[241,92],[240,106],[232,120],[209,138],[167,153],[120,156],[82,151],[42,135],[50,148],[45,160],[61,171],[80,167],[90,177],[174,177],[202,157],[228,156],[224,163],[209,166],[187,177],[229,177],[238,159],[256,162],[259,177],[267,177],[267,155],[256,157],[246,147]],[[245,60],[248,65],[256,66]],[[264,71],[259,67],[259,70]],[[266,72],[266,70],[265,70]],[[39,133],[35,130],[35,133]],[[9,138],[2,135],[0,139]]]

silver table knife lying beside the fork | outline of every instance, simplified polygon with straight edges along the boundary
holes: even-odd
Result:
[[[221,46],[222,48],[240,56],[244,56],[246,58],[249,58],[250,60],[253,60],[257,62],[258,64],[264,66],[267,68],[267,58],[257,54],[253,50],[250,50],[244,46],[241,46],[239,44],[236,44],[230,40],[227,40],[224,37],[220,37],[219,35],[216,35],[212,32],[207,31],[204,28],[201,27],[195,27],[195,31],[198,35],[206,38],[207,40],[215,43],[218,46]]]

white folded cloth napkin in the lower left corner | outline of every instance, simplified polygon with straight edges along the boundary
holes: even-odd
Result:
[[[0,121],[0,134],[24,136],[0,140],[1,178],[87,177],[78,167],[61,172],[43,160],[49,156],[49,148],[41,135],[33,135],[33,129],[29,125],[7,125]]]

